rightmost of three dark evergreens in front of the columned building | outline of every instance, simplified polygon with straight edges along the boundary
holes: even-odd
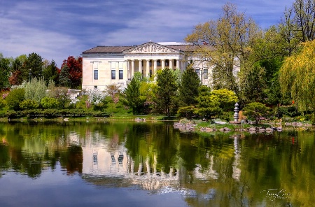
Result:
[[[181,76],[181,87],[179,87],[179,97],[183,106],[195,105],[197,103],[198,88],[200,79],[195,70],[189,65]]]

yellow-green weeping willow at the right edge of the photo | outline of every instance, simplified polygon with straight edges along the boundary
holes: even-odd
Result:
[[[281,92],[290,93],[299,110],[315,109],[315,41],[284,60],[279,78]]]

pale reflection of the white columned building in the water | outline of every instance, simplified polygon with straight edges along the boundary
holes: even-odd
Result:
[[[158,171],[157,156],[154,155],[151,171],[150,158],[140,159],[136,165],[127,155],[127,149],[120,145],[118,150],[109,152],[102,147],[83,147],[83,174],[86,176],[120,177],[130,184],[140,185],[144,190],[158,190],[165,186],[179,185],[179,170],[170,168],[169,173]]]

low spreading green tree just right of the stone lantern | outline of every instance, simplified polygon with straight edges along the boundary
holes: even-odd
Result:
[[[260,122],[261,117],[269,115],[270,108],[259,102],[248,103],[244,108],[244,115],[249,119],[255,120],[255,123]]]

